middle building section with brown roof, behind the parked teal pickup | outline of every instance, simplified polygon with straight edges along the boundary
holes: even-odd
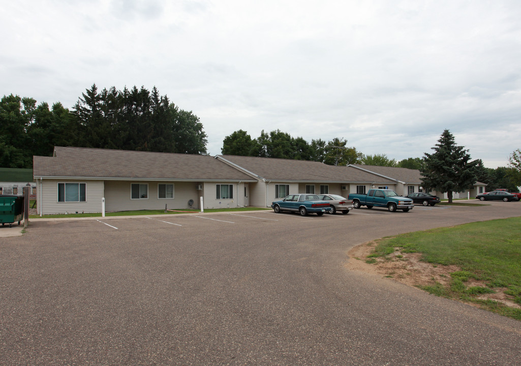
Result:
[[[271,202],[295,193],[331,193],[348,196],[365,193],[371,186],[394,188],[396,182],[349,166],[268,157],[217,155],[217,160],[257,179],[249,184],[249,203],[269,207]]]

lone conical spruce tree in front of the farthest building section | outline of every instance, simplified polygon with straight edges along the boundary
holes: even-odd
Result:
[[[476,182],[475,166],[477,161],[470,161],[468,150],[456,145],[454,136],[444,130],[433,154],[425,153],[424,165],[420,169],[423,186],[426,191],[447,192],[452,203],[452,192],[462,192]]]

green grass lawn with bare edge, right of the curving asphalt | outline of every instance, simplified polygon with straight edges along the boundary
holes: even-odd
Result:
[[[420,287],[432,294],[478,304],[502,315],[521,320],[521,309],[498,301],[478,299],[479,294],[503,291],[521,305],[521,217],[438,228],[379,240],[368,257],[391,260],[391,253],[420,252],[421,260],[433,265],[456,265],[449,285],[433,280]],[[372,261],[371,261],[372,262]],[[468,286],[469,279],[485,286]]]

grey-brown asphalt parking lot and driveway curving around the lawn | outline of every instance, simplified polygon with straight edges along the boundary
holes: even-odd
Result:
[[[344,266],[371,239],[512,216],[521,203],[35,219],[0,237],[0,364],[520,364],[521,322]]]

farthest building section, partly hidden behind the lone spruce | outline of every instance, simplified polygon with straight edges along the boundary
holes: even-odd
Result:
[[[358,164],[350,164],[349,166],[361,169],[364,172],[373,173],[384,177],[386,179],[390,179],[396,182],[396,193],[406,196],[407,194],[414,192],[424,191],[424,188],[421,186],[421,174],[418,169],[407,169],[407,168],[397,168],[391,166],[374,166],[374,165],[358,165]],[[474,198],[477,194],[485,192],[485,187],[487,185],[485,183],[476,182],[472,187],[466,189],[463,192],[453,192],[453,198]],[[441,198],[447,199],[447,193],[442,193],[438,191],[430,191],[429,193],[434,194],[435,196],[439,196]]]

